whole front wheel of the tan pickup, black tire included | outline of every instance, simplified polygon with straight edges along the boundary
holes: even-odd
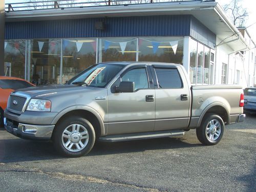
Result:
[[[71,131],[73,130],[73,127],[75,127],[76,131]],[[88,134],[85,134],[86,132]],[[87,136],[88,138],[82,139]],[[90,121],[82,117],[71,116],[56,124],[52,140],[55,149],[61,155],[67,157],[80,157],[88,154],[94,145],[94,127]],[[80,141],[84,144],[84,147],[82,147],[83,145],[80,144]]]

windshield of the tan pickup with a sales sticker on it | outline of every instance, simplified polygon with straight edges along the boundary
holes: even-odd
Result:
[[[67,84],[104,88],[123,67],[123,65],[100,63],[84,70],[70,79]]]

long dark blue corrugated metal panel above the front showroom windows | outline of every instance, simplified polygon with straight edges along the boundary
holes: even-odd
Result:
[[[6,39],[189,36],[190,15],[84,18],[6,23]],[[94,29],[95,22],[105,30]]]

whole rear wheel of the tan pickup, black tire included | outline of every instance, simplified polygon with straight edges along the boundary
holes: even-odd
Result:
[[[224,122],[219,115],[206,114],[200,127],[197,128],[198,140],[206,145],[215,145],[220,142],[224,133]]]

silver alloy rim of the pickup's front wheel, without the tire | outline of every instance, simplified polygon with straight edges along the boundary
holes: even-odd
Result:
[[[71,124],[63,131],[61,140],[68,151],[79,152],[88,144],[88,130],[81,124]]]

